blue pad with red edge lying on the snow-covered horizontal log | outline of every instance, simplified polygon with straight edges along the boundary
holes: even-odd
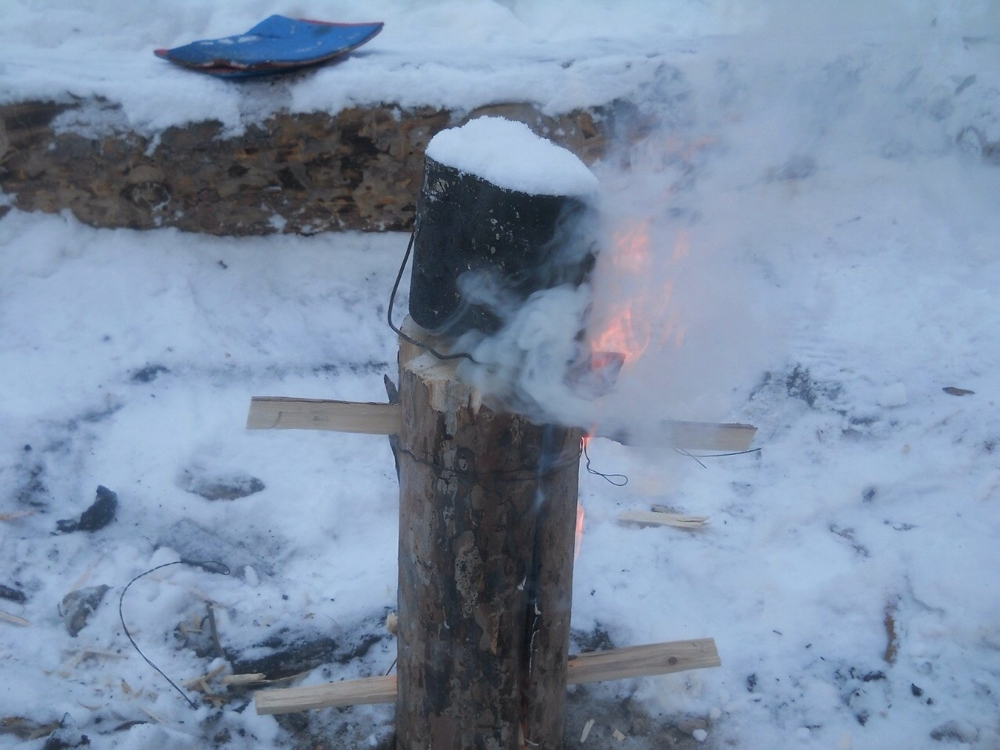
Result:
[[[220,78],[246,78],[329,62],[374,38],[382,23],[328,23],[271,16],[245,34],[205,39],[157,57]]]

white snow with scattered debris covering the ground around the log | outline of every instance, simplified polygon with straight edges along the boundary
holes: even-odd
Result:
[[[612,231],[639,224],[657,249],[634,291],[669,286],[657,323],[683,336],[626,370],[601,408],[637,425],[751,422],[761,450],[702,466],[655,441],[593,442],[594,467],[630,481],[582,476],[574,629],[622,646],[711,636],[723,661],[597,696],[633,694],[654,724],[703,721],[708,747],[994,748],[1000,9],[759,5],[7,0],[0,99],[105,96],[121,119],[97,125],[150,132],[352,102],[634,101],[658,129],[594,171]],[[224,83],[151,54],[272,12],[386,27],[290,83]],[[175,682],[222,663],[194,632],[209,629],[208,601],[244,660],[276,635],[326,636],[331,658],[306,683],[389,669],[387,441],[243,424],[253,395],[384,398],[406,241],[0,219],[0,610],[30,623],[0,621],[0,745],[41,748],[32,728],[60,721],[70,745],[288,741],[289,725],[245,698],[192,710],[128,642],[123,589],[179,558],[232,575],[167,567],[123,607]],[[117,493],[114,521],[54,533],[99,485]],[[251,494],[205,497],[227,490]],[[618,523],[651,504],[710,523]],[[63,597],[99,586],[71,636]],[[387,709],[321,715],[331,737],[391,731]],[[623,722],[621,746],[644,746]]]

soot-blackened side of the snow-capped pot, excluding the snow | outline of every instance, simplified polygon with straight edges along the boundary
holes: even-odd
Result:
[[[449,336],[496,331],[532,293],[587,279],[593,224],[581,197],[501,188],[425,157],[410,316]]]

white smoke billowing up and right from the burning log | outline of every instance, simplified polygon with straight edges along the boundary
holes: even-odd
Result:
[[[1000,96],[1000,76],[977,63],[983,45],[995,45],[982,34],[997,28],[1000,6],[956,8],[776,2],[739,39],[678,40],[685,51],[665,55],[671,62],[645,100],[609,118],[618,142],[594,167],[592,289],[532,299],[477,358],[501,363],[493,375],[515,376],[540,418],[628,426],[651,442],[664,419],[738,418],[764,371],[783,364],[788,337],[822,325],[820,258],[843,236],[835,230],[905,200],[878,196],[880,175],[906,165],[923,177],[926,161],[944,176],[944,159],[1000,142],[1000,124],[977,105]],[[956,35],[968,35],[966,57],[939,44]],[[878,196],[879,207],[854,194]],[[615,239],[636,227],[650,256],[641,273],[616,276]],[[645,353],[596,401],[565,385],[584,294],[591,321],[644,300],[634,312],[650,327]]]

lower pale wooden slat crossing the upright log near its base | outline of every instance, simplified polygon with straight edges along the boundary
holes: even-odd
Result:
[[[712,638],[654,643],[571,656],[566,665],[567,682],[579,685],[705,669],[721,664]],[[392,703],[395,700],[395,675],[280,690],[258,690],[254,693],[254,706],[258,714],[287,714],[311,708]]]

